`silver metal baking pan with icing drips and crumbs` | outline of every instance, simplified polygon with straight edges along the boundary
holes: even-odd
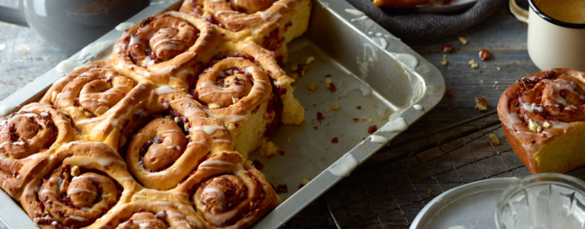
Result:
[[[180,5],[180,0],[161,2],[128,21],[140,22]],[[88,47],[112,44],[121,34],[112,30]],[[111,53],[111,48],[94,49],[105,51],[93,60]],[[293,40],[288,50],[288,62],[292,64],[304,64],[307,57],[315,57],[295,83],[295,97],[305,107],[305,122],[280,126],[270,139],[284,155],[250,155],[250,160],[257,159],[264,165],[260,171],[268,182],[288,186],[288,193],[280,194],[283,203],[261,219],[256,228],[281,227],[349,175],[355,165],[380,150],[384,144],[372,143],[368,137],[370,126],[393,129],[400,126],[402,118],[402,123],[410,125],[431,110],[445,91],[445,81],[437,68],[345,1],[314,0],[307,33]],[[90,58],[82,56],[87,51],[82,53],[70,60],[89,62]],[[290,65],[286,64],[285,70]],[[0,106],[35,102],[63,75],[50,70],[0,102]],[[331,75],[335,92],[326,88],[325,75]],[[315,91],[307,88],[312,82],[317,85]],[[335,103],[339,110],[331,109]],[[316,119],[317,112],[325,116],[321,122]],[[399,133],[378,130],[375,134],[392,140]],[[334,137],[339,143],[332,143]],[[304,178],[311,182],[298,188]],[[18,204],[0,192],[0,212],[6,213],[0,216],[3,223],[9,228],[34,225],[24,211],[16,209],[20,209]]]

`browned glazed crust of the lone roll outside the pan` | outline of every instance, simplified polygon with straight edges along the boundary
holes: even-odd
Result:
[[[553,68],[520,79],[501,96],[498,116],[508,142],[533,174],[543,169],[538,152],[585,121],[584,88],[583,72]]]

